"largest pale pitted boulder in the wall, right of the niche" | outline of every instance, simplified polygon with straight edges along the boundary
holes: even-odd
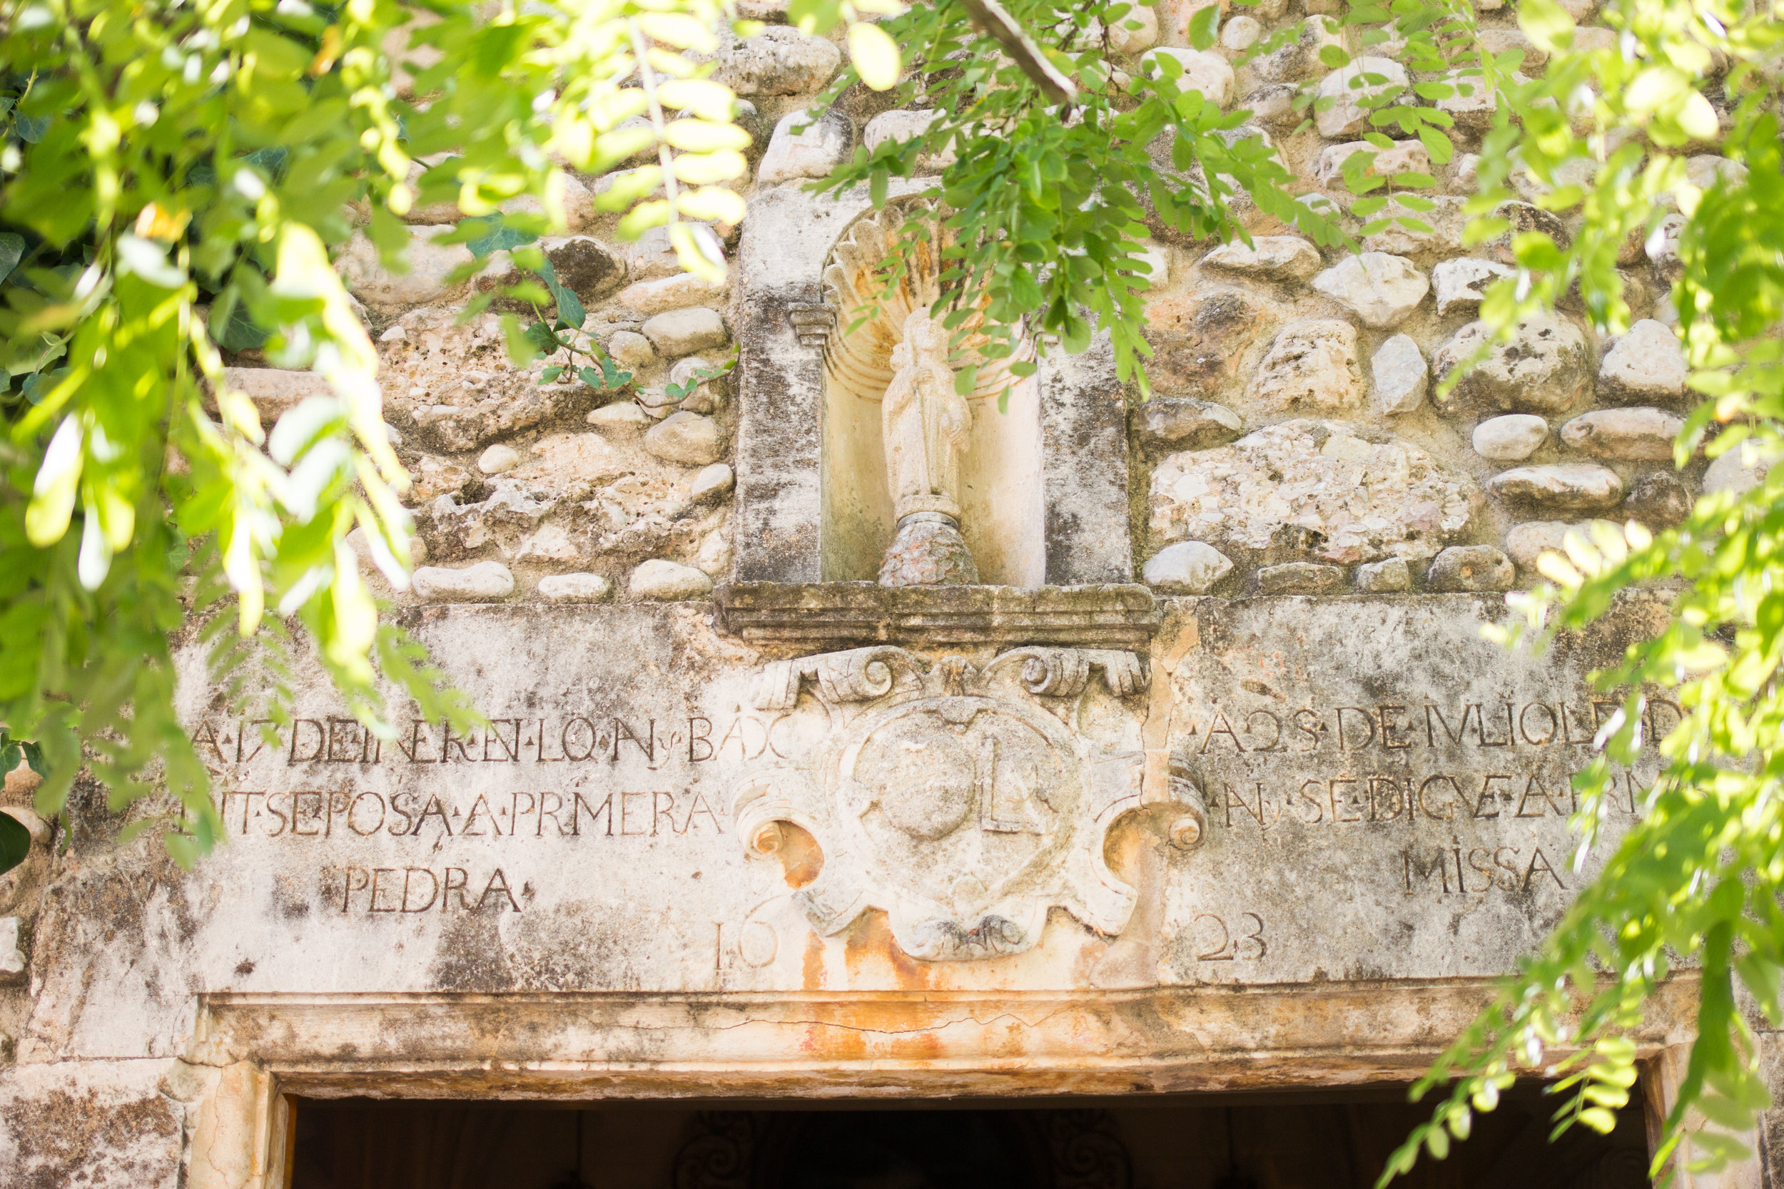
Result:
[[[1158,540],[1261,553],[1283,526],[1299,526],[1331,562],[1429,558],[1468,528],[1477,503],[1466,476],[1416,446],[1286,421],[1165,458],[1152,472],[1151,528]]]

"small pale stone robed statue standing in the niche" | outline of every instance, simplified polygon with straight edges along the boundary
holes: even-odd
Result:
[[[960,535],[960,456],[972,408],[954,392],[947,330],[917,310],[892,349],[881,406],[887,487],[897,533],[880,565],[881,586],[970,586],[979,567]]]

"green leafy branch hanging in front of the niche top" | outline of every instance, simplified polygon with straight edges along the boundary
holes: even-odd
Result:
[[[1317,242],[1343,242],[1326,216],[1295,200],[1293,175],[1274,148],[1238,132],[1249,112],[1224,112],[1170,52],[1140,61],[1115,52],[1110,30],[1133,11],[1129,0],[1008,5],[1037,52],[1072,80],[1074,93],[1060,100],[972,25],[962,0],[912,7],[885,29],[906,57],[896,98],[931,112],[928,127],[872,152],[858,148],[817,184],[837,193],[865,185],[885,205],[892,178],[935,175],[917,193],[946,212],[935,316],[956,332],[956,344],[983,335],[978,355],[1012,360],[1015,376],[1037,367],[1013,358],[1024,337],[1042,351],[1056,342],[1076,353],[1101,328],[1120,378],[1145,390],[1149,221],[1197,239],[1245,239],[1231,214],[1245,196]],[[1211,43],[1211,32],[1202,34]],[[844,71],[830,98],[855,77]],[[913,210],[921,214],[899,235],[906,255],[924,242],[929,217],[928,207]],[[896,262],[887,283],[908,267]],[[976,383],[978,367],[967,362],[956,385],[970,392]]]

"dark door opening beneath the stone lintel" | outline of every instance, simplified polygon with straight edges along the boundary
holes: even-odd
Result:
[[[1647,1185],[1641,1109],[1549,1143],[1516,1087],[1406,1189]],[[1397,1087],[749,1105],[298,1100],[293,1189],[1370,1189],[1425,1118]]]

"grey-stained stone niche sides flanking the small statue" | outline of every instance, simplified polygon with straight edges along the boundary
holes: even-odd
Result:
[[[751,207],[735,307],[739,583],[878,574],[894,535],[881,399],[904,319],[933,301],[933,264],[903,282],[878,317],[855,323],[871,312],[869,273],[917,189],[896,187],[885,210],[865,194],[831,200],[797,187],[760,194]],[[1131,581],[1124,403],[1106,340],[1006,380],[988,367],[967,398],[958,503],[979,583]]]

